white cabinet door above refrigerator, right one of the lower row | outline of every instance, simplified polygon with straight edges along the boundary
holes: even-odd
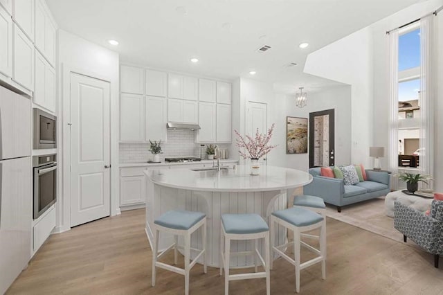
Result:
[[[12,79],[26,89],[34,90],[34,45],[28,37],[14,25]]]

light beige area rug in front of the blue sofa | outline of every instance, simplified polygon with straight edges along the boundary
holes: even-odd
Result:
[[[326,215],[347,224],[352,224],[390,238],[395,241],[403,242],[403,234],[394,229],[394,219],[385,214],[385,199],[378,197],[365,202],[344,206],[341,213],[337,212],[336,206],[327,205]]]

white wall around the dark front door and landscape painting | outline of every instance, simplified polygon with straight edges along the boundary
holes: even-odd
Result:
[[[351,87],[343,86],[324,91],[308,93],[307,106],[302,109],[295,106],[295,97],[286,97],[287,116],[308,118],[309,113],[334,109],[335,125],[335,164],[347,165],[351,160]],[[309,138],[309,141],[311,138]],[[284,143],[286,144],[286,143]],[[284,146],[286,147],[286,145]],[[309,154],[286,154],[285,166],[299,170],[309,168]]]

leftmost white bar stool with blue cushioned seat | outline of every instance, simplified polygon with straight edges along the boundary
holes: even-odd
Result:
[[[191,249],[191,235],[197,229],[202,227],[202,248],[199,249]],[[174,244],[172,244],[167,249],[163,250],[160,254],[159,251],[159,237],[160,231],[165,233],[171,233],[174,235]],[[203,255],[204,256],[204,273],[207,272],[206,267],[206,215],[200,212],[191,212],[191,211],[168,211],[160,215],[156,220],[154,220],[154,249],[152,249],[152,287],[155,286],[155,278],[156,278],[156,267],[160,267],[161,269],[166,269],[168,271],[173,271],[177,274],[181,274],[185,276],[185,294],[189,294],[189,272],[192,267],[197,263],[197,260]],[[159,258],[161,258],[165,253],[174,249],[174,264],[177,264],[177,249],[178,245],[178,236],[183,235],[185,238],[185,269],[181,269],[179,267],[174,267],[172,265],[167,265],[163,262],[159,262]],[[199,251],[197,257],[190,262],[190,251]]]

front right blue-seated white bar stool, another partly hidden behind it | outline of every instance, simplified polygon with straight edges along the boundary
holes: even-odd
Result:
[[[293,242],[287,242],[282,245],[274,246],[275,239],[271,239],[271,249],[296,268],[296,292],[300,292],[300,270],[310,267],[318,262],[322,264],[322,278],[326,278],[326,222],[325,218],[318,213],[309,211],[305,208],[288,208],[285,210],[275,211],[271,215],[271,237],[275,237],[275,223],[284,226],[293,231]],[[300,240],[301,233],[320,229],[320,249],[316,249],[311,245]],[[284,249],[293,244],[294,259],[284,253]],[[300,245],[313,251],[318,256],[306,262],[300,263]],[[272,269],[272,260],[271,260]]]

